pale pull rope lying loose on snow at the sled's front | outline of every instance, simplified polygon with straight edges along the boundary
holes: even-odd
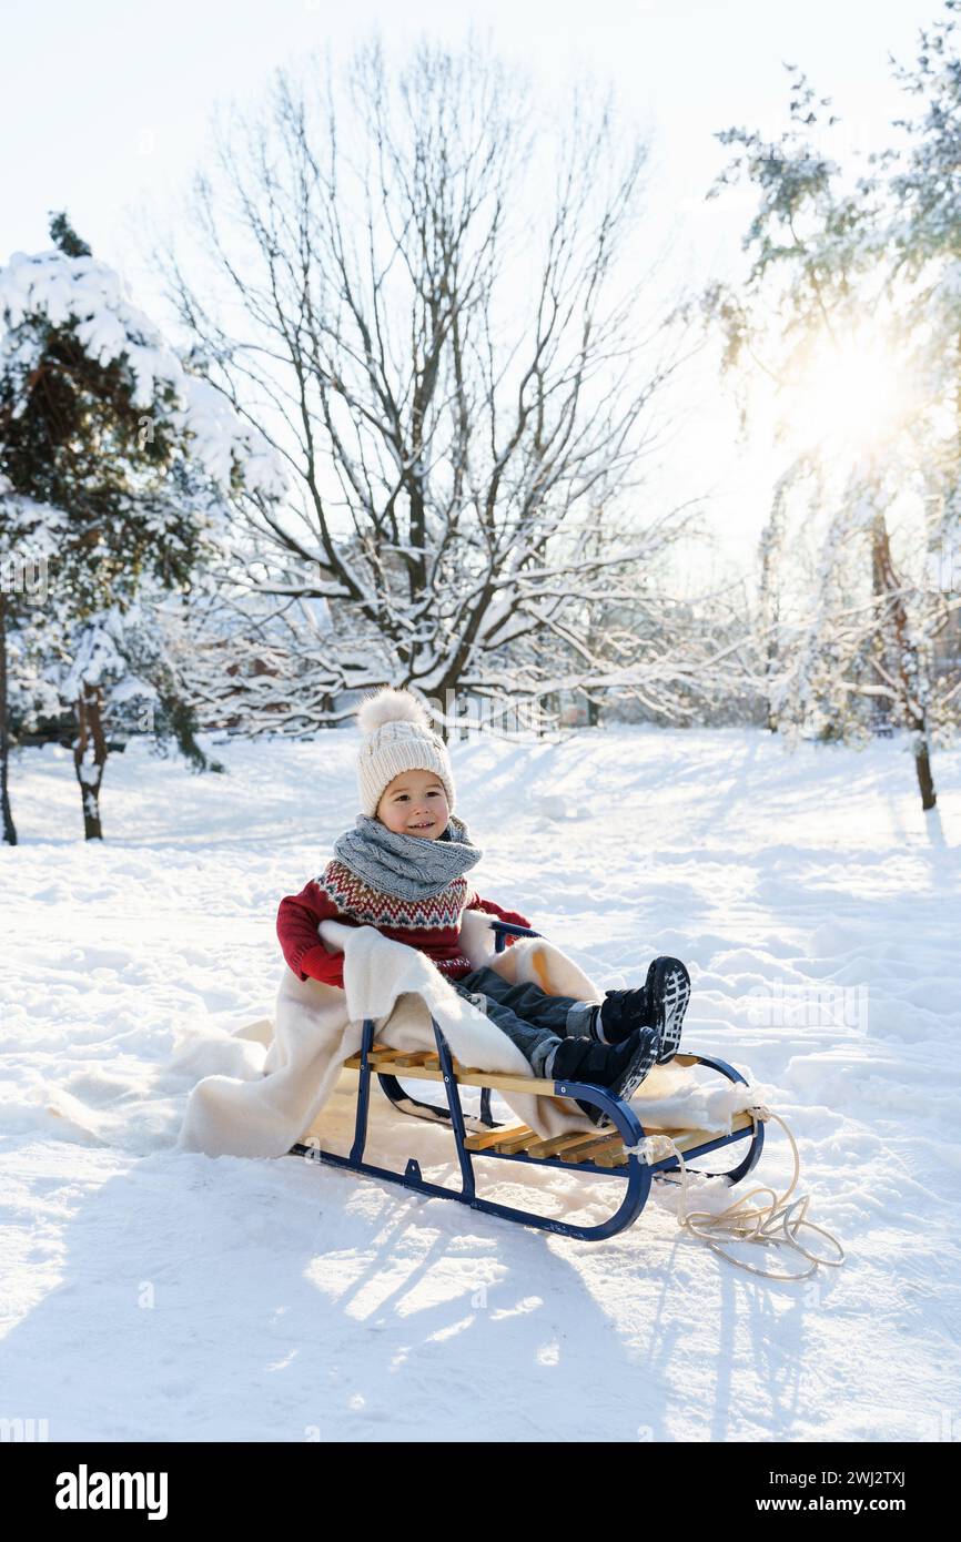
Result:
[[[764,1104],[756,1104],[753,1109],[747,1110],[754,1123],[754,1135],[757,1133],[757,1121],[776,1119],[781,1129],[787,1133],[791,1143],[791,1153],[794,1158],[794,1173],[788,1183],[784,1194],[779,1197],[774,1189],[760,1186],[757,1189],[750,1189],[744,1194],[734,1204],[730,1204],[727,1210],[688,1210],[688,1170],[683,1160],[683,1152],[676,1146],[669,1135],[659,1135],[657,1132],[648,1135],[636,1147],[628,1147],[634,1150],[645,1161],[660,1161],[663,1156],[676,1156],[680,1167],[680,1206],[677,1210],[677,1224],[682,1231],[688,1232],[691,1237],[699,1237],[702,1241],[713,1249],[713,1252],[720,1254],[728,1263],[736,1264],[739,1269],[747,1269],[750,1274],[760,1274],[765,1280],[807,1280],[813,1275],[821,1264],[830,1269],[836,1269],[844,1263],[844,1247],[824,1226],[814,1226],[808,1221],[807,1210],[810,1204],[810,1195],[799,1195],[791,1200],[791,1194],[801,1177],[801,1155],[797,1152],[797,1143],[787,1124],[777,1113],[771,1113]],[[770,1203],[751,1206],[750,1200],[756,1198],[759,1194],[770,1195]],[[790,1203],[788,1203],[790,1200]],[[808,1252],[797,1241],[797,1232],[802,1226],[808,1231],[819,1232],[822,1237],[838,1249],[838,1258],[821,1258],[818,1254]],[[759,1269],[753,1263],[744,1263],[740,1258],[734,1258],[727,1252],[717,1241],[714,1234],[722,1234],[736,1241],[747,1243],[771,1243],[779,1247],[790,1247],[799,1252],[804,1258],[810,1260],[810,1266],[801,1274],[774,1274],[770,1269]]]

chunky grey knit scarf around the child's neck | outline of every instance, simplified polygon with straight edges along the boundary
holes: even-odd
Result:
[[[472,843],[467,827],[454,814],[437,840],[429,840],[427,836],[398,836],[381,825],[379,819],[359,814],[353,830],[335,840],[333,854],[381,894],[429,899],[480,862],[483,851]]]

